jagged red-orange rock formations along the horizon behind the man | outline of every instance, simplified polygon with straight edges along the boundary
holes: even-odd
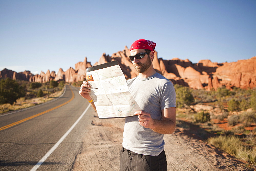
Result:
[[[125,47],[123,51],[114,53],[112,56],[104,53],[94,65],[117,60],[125,77],[134,78],[138,73],[129,60],[129,55],[130,51]],[[30,71],[17,73],[12,70],[4,69],[0,71],[0,79],[9,77],[31,82],[47,82],[50,80],[76,82],[83,81],[86,78],[86,68],[91,66],[91,62],[88,62],[87,58],[85,58],[83,62],[75,64],[75,69],[70,67],[64,72],[60,68],[57,74],[55,71],[50,72],[48,70],[46,73],[41,72],[40,74],[33,75]],[[217,89],[221,86],[226,86],[230,89],[233,87],[256,87],[256,56],[231,63],[216,63],[210,60],[200,60],[198,63],[192,63],[188,59],[158,59],[157,52],[155,52],[153,66],[158,73],[162,74],[173,83],[189,86],[193,89],[211,90],[212,88]]]

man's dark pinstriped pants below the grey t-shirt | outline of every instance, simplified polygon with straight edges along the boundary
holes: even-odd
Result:
[[[134,153],[124,147],[120,151],[120,171],[167,170],[165,152],[158,156]]]

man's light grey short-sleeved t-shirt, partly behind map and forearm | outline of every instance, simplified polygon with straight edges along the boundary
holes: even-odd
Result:
[[[162,120],[161,110],[176,107],[173,83],[159,73],[142,79],[139,76],[127,80],[130,93],[142,111],[153,119]],[[141,126],[138,116],[126,117],[123,147],[135,153],[156,156],[164,149],[164,135]]]

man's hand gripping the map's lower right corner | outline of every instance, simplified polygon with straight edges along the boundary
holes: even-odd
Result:
[[[144,111],[137,111],[134,112],[135,115],[138,115],[138,120],[140,125],[144,126],[145,128],[154,129],[154,119],[152,119],[150,113]]]

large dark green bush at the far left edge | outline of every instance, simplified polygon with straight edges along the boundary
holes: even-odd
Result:
[[[26,89],[10,78],[0,80],[0,104],[13,104],[16,99],[24,97]]]

